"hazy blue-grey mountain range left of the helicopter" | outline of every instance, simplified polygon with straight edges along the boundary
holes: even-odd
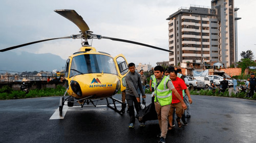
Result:
[[[35,54],[30,52],[2,52],[0,53],[0,72],[15,71],[61,71],[66,60],[51,53]]]

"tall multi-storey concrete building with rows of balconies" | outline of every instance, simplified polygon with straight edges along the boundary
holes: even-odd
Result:
[[[169,65],[237,60],[237,25],[232,0],[212,0],[211,7],[180,8],[166,20],[169,30]]]

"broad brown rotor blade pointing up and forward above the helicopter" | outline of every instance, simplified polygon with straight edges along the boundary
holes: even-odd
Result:
[[[78,28],[81,30],[82,34],[90,30],[87,23],[82,19],[80,15],[76,13],[75,10],[54,10],[54,11],[60,14],[61,16],[69,19],[73,23],[75,23],[78,26]]]

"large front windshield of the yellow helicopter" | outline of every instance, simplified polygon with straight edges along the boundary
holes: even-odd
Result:
[[[70,77],[86,73],[117,74],[113,58],[102,54],[83,54],[75,56],[70,68]]]

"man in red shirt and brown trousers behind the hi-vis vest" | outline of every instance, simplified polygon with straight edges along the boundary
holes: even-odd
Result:
[[[176,70],[170,71],[169,77],[172,80],[175,89],[178,91],[178,93],[180,95],[182,95],[182,90],[185,90],[185,93],[187,95],[189,95],[189,97],[190,97],[190,94],[189,94],[189,91],[187,89],[187,86],[186,86],[185,82],[177,76],[177,71]],[[183,100],[183,96],[181,96],[181,98]],[[182,124],[180,122],[180,119],[181,119],[181,117],[184,113],[184,109],[181,106],[180,100],[177,99],[176,96],[173,95],[172,103],[170,104],[170,110],[169,110],[169,114],[168,114],[168,120],[169,120],[169,125],[170,125],[170,127],[168,128],[169,130],[173,128],[172,121],[173,121],[173,112],[174,112],[175,109],[176,109],[175,112],[176,112],[176,115],[177,115],[176,121],[177,121],[178,127],[181,128]]]

